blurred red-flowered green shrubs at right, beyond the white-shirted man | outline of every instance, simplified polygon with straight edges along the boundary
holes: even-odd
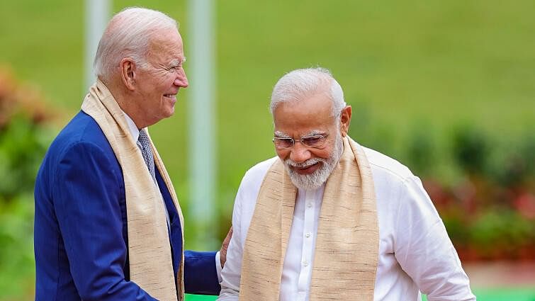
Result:
[[[535,136],[500,145],[468,128],[453,141],[462,181],[424,186],[461,259],[535,260]]]

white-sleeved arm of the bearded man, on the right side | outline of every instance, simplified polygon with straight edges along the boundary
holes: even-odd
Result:
[[[419,178],[402,183],[395,257],[427,300],[475,300],[446,228]]]

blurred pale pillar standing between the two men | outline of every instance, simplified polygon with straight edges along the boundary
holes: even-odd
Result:
[[[213,1],[189,0],[188,51],[186,62],[189,91],[189,183],[190,198],[187,213],[195,224],[193,246],[217,248],[215,239],[215,178],[218,174],[215,160],[215,59],[213,35]]]

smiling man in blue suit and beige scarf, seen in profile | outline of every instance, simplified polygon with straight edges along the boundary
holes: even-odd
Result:
[[[183,251],[180,207],[146,130],[173,115],[188,86],[185,59],[176,21],[164,13],[127,8],[108,24],[97,83],[35,183],[35,300],[219,293],[228,240],[217,254]]]

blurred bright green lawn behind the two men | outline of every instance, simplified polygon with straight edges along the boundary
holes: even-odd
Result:
[[[414,128],[437,140],[460,124],[496,140],[535,131],[535,1],[214,2],[220,237],[244,171],[274,156],[269,96],[291,69],[331,69],[354,106],[350,135],[396,158],[403,159]],[[186,56],[195,55],[188,53],[186,1],[116,0],[112,11],[125,6],[169,13],[181,23]],[[0,67],[43,93],[60,115],[55,130],[79,110],[85,94],[83,8],[83,1],[67,0],[0,5]],[[188,89],[181,91],[174,117],[151,131],[186,218],[188,101]],[[446,166],[441,176],[451,176],[448,162],[440,164]],[[186,244],[203,246],[191,227]],[[535,299],[484,294],[479,300]]]

